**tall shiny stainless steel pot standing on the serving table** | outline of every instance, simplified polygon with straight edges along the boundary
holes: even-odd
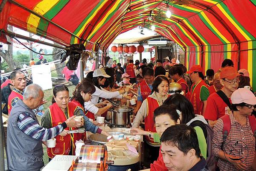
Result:
[[[130,124],[130,111],[127,107],[118,107],[113,109],[112,124],[117,126],[126,126]]]

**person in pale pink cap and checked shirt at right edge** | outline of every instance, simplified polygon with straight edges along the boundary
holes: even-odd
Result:
[[[239,88],[231,95],[231,101],[232,113],[218,119],[213,128],[212,151],[218,157],[220,171],[252,171],[256,147],[253,130],[256,121],[250,115],[256,97],[249,89]],[[224,133],[228,132],[227,125],[230,129],[224,139]]]

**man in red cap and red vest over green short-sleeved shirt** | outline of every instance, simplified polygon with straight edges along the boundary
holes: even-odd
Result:
[[[200,65],[194,65],[186,72],[190,74],[193,82],[190,90],[190,102],[194,107],[194,113],[198,115],[203,115],[209,96],[209,90],[204,82],[202,71],[203,69]]]

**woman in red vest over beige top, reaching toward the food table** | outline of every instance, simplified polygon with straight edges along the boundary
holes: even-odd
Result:
[[[145,145],[147,146],[145,149],[150,149],[148,156],[150,157],[151,163],[157,160],[160,149],[160,143],[154,142],[153,139],[153,133],[156,133],[153,112],[168,98],[169,79],[164,75],[159,75],[155,78],[152,87],[153,93],[143,101],[132,125],[133,128],[138,128],[144,119],[145,130],[149,131],[149,136],[145,136]]]

